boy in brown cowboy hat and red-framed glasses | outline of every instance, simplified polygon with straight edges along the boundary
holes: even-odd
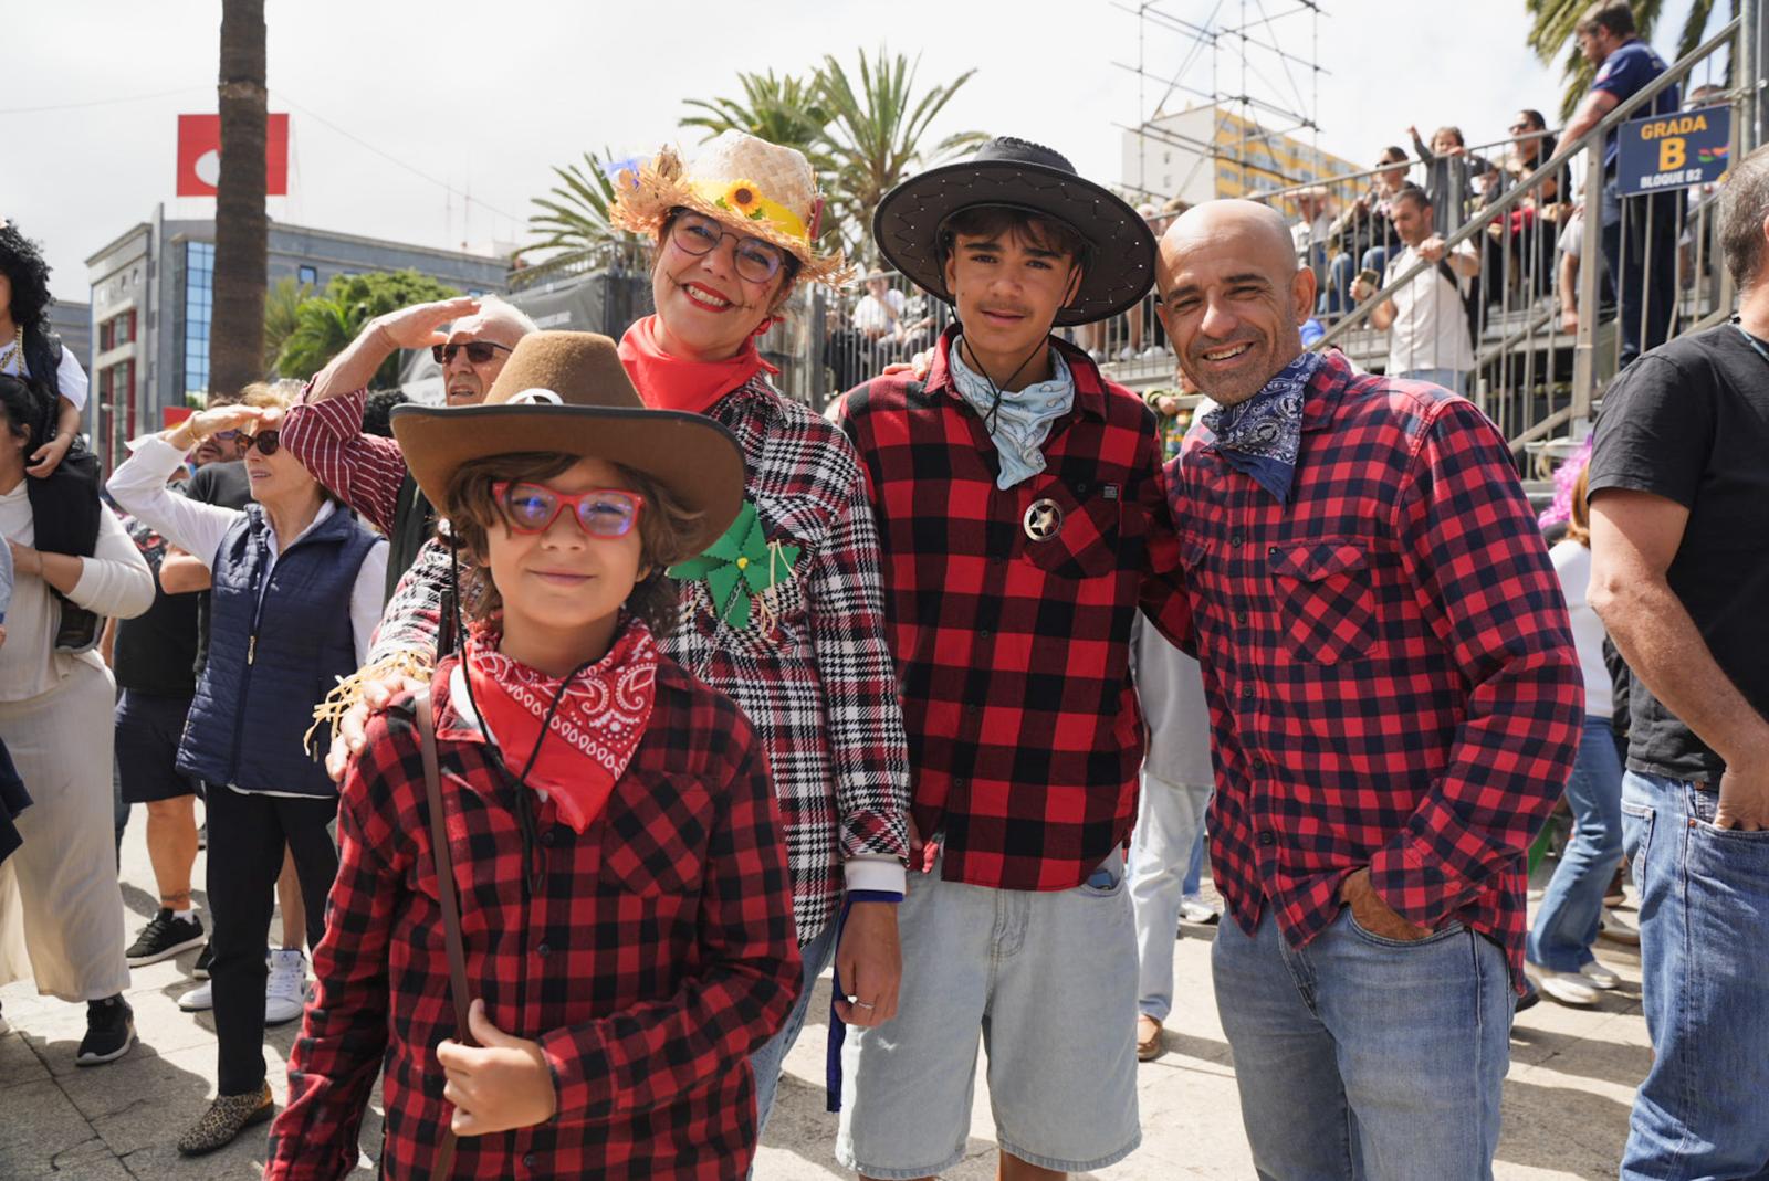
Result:
[[[478,1177],[743,1176],[748,1055],[800,988],[785,840],[748,720],[655,638],[665,566],[738,516],[741,451],[646,408],[587,332],[532,332],[483,405],[393,430],[474,559],[474,619],[345,780],[265,1177],[350,1172],[382,1064],[387,1177],[456,1176],[451,1153]]]

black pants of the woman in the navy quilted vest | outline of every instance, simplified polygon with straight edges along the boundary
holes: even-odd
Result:
[[[338,850],[325,826],[338,799],[246,796],[211,787],[209,815],[209,967],[216,997],[221,1094],[246,1094],[264,1086],[264,948],[271,937],[276,877],[283,845],[295,859],[301,902],[308,912],[308,946],[325,933],[325,895],[338,877]]]

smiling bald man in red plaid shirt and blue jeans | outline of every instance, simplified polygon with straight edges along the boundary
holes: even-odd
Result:
[[[1168,465],[1212,716],[1222,1029],[1261,1177],[1491,1177],[1525,849],[1583,686],[1505,440],[1467,400],[1302,350],[1284,219],[1160,242],[1219,403]]]

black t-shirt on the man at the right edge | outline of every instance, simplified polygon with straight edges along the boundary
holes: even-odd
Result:
[[[1666,580],[1721,672],[1769,716],[1769,357],[1734,324],[1640,357],[1603,400],[1592,499],[1604,488],[1689,509]],[[1725,771],[1638,675],[1629,714],[1631,769],[1675,780]]]

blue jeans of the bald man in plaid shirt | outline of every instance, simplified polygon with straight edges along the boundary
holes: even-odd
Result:
[[[1419,942],[1350,907],[1304,948],[1270,903],[1212,953],[1240,1116],[1261,1181],[1489,1179],[1511,1057],[1511,969],[1459,923]]]

